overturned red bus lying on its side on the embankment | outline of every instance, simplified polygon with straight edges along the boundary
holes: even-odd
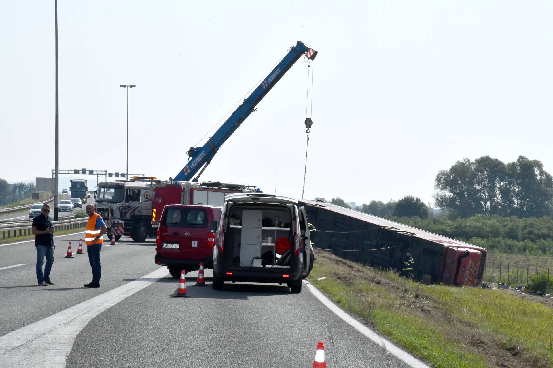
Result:
[[[401,270],[411,253],[417,281],[475,286],[482,281],[487,250],[438,234],[323,201],[301,199],[313,247],[378,268]],[[356,252],[355,250],[358,250]]]

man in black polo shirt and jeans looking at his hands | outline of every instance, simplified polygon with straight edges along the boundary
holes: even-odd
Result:
[[[36,279],[39,285],[54,285],[54,282],[50,281],[50,270],[54,263],[56,246],[54,244],[54,227],[48,215],[50,215],[50,206],[44,204],[40,215],[33,218],[33,227],[31,228],[31,233],[35,235]],[[46,256],[46,265],[43,274],[44,256]]]

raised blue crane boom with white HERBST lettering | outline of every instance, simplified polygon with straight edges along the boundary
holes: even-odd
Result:
[[[317,53],[317,51],[311,49],[301,41],[298,41],[295,46],[291,46],[290,49],[288,49],[288,54],[283,57],[273,71],[254,89],[248,98],[244,99],[244,102],[234,110],[223,125],[217,129],[215,134],[207,140],[206,144],[202,147],[190,147],[190,150],[187,151],[190,159],[186,166],[175,176],[174,180],[189,182],[198,170],[203,167],[197,177],[192,180],[193,182],[197,182],[197,179],[204,172],[207,165],[210,164],[211,159],[215,156],[223,143],[225,143],[228,137],[230,137],[242,122],[248,118],[249,114],[255,110],[255,106],[265,97],[269,90],[274,87],[276,82],[284,76],[290,67],[294,65],[301,55],[305,54],[307,61],[311,62],[314,60],[315,56],[317,56]]]

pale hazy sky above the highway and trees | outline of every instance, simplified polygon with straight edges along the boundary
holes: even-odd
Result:
[[[544,1],[59,0],[60,169],[125,171],[119,84],[136,84],[129,171],[174,177],[188,148],[204,145],[301,40],[319,51],[304,198],[431,202],[439,170],[486,154],[522,154],[553,173],[552,10]],[[0,34],[0,178],[49,177],[54,0],[0,2]],[[300,58],[201,179],[301,196],[306,88]]]

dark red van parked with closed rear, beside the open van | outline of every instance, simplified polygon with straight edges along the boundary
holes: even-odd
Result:
[[[221,209],[222,206],[166,205],[155,239],[155,264],[167,266],[176,279],[183,269],[199,270],[200,263],[213,268],[215,230]]]

